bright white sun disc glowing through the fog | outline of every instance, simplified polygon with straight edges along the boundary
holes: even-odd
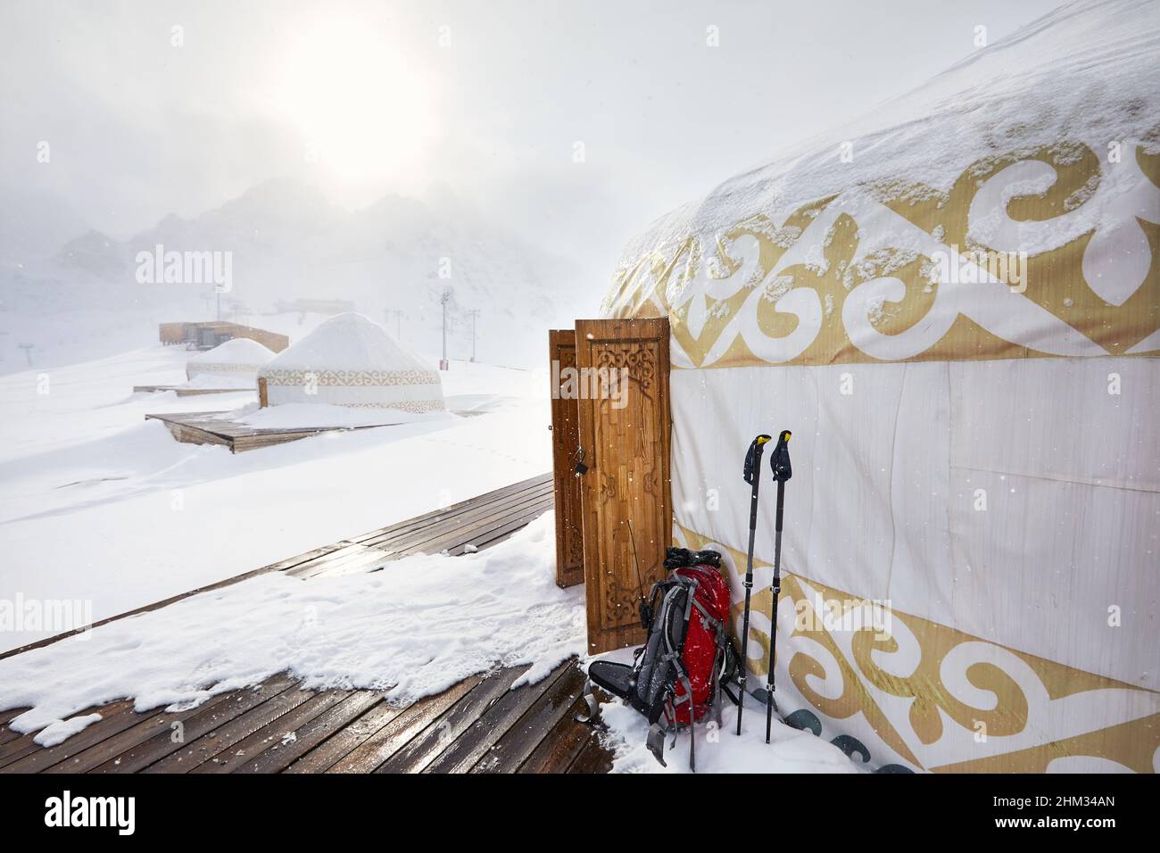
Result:
[[[355,19],[320,19],[292,31],[271,94],[302,133],[305,159],[345,180],[414,166],[434,130],[430,95],[390,34]]]

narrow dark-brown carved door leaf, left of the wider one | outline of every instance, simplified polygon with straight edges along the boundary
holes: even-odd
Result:
[[[580,410],[575,395],[561,389],[577,367],[577,334],[571,328],[548,333],[552,377],[552,474],[556,492],[556,583],[583,583],[583,527],[580,519]],[[563,390],[563,393],[561,393]]]

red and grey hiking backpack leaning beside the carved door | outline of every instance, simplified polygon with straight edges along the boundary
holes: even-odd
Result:
[[[669,548],[668,578],[653,585],[640,602],[640,623],[648,632],[633,663],[594,660],[588,667],[587,720],[599,706],[595,684],[625,700],[648,720],[648,750],[665,764],[665,736],[712,715],[720,725],[720,696],[734,704],[727,685],[738,670],[728,638],[728,583],[720,573],[720,554]],[[696,737],[689,739],[689,766],[696,769]]]

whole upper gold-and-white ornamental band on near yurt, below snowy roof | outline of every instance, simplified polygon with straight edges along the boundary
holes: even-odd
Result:
[[[1160,354],[1160,132],[1059,144],[949,191],[855,186],[630,259],[606,317],[668,316],[673,366]]]

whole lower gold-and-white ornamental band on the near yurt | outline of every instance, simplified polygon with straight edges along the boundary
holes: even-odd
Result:
[[[734,587],[745,552],[676,526],[687,548],[712,548]],[[754,566],[768,569],[764,561]],[[753,612],[767,613],[769,587]],[[832,619],[864,599],[792,571],[778,602],[777,702],[789,724],[834,738],[882,767],[940,773],[1044,773],[1058,759],[1152,773],[1160,756],[1160,693],[1029,655],[947,624],[890,609],[887,629]],[[733,603],[734,629],[741,602]],[[766,674],[768,631],[759,616],[751,672]],[[986,737],[979,737],[985,732]],[[834,737],[836,735],[836,737]]]

